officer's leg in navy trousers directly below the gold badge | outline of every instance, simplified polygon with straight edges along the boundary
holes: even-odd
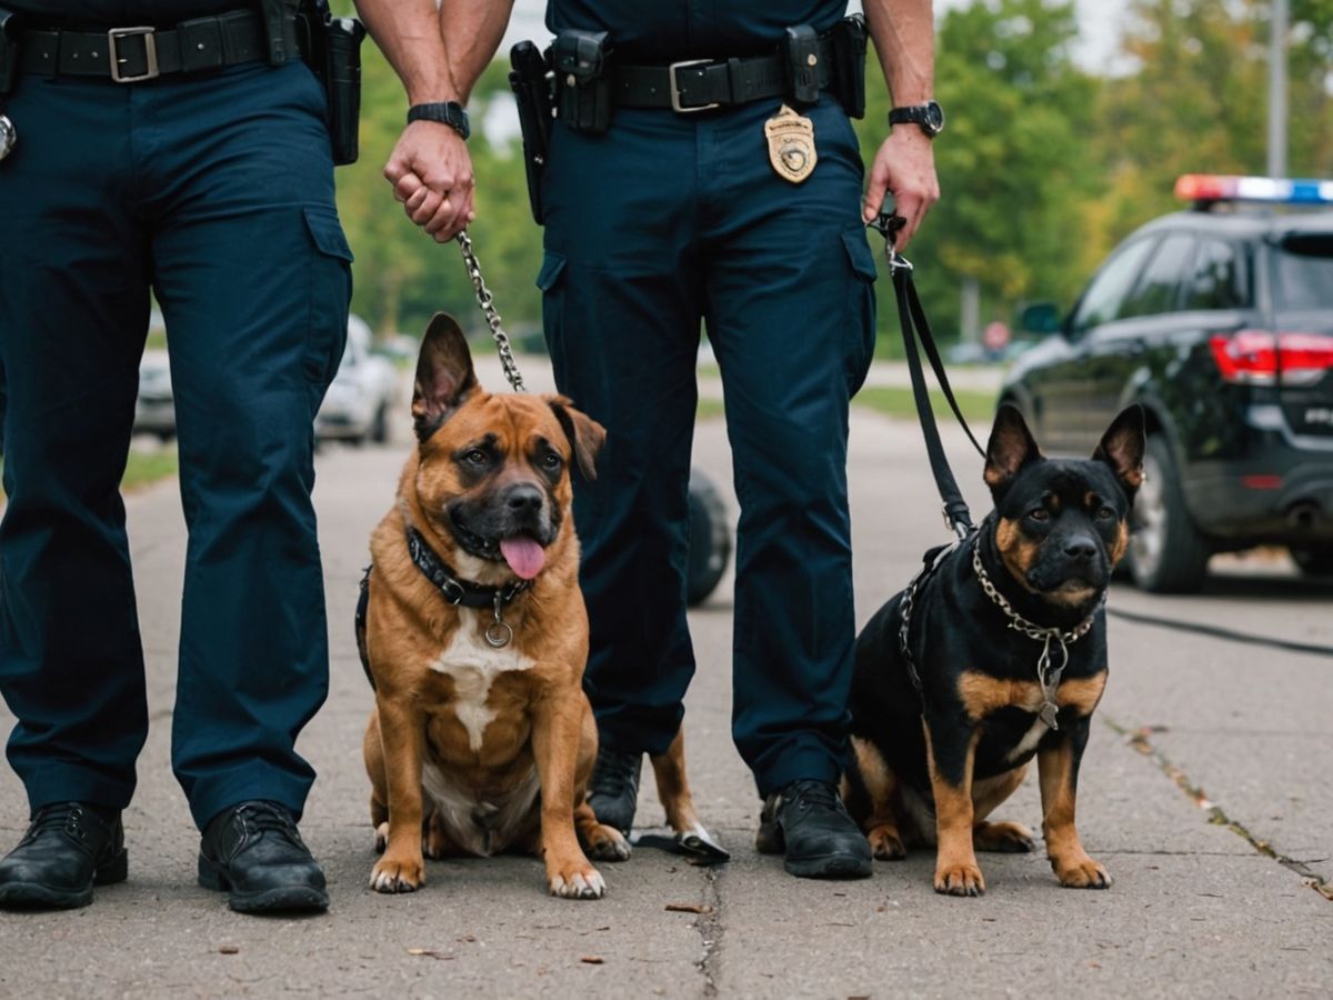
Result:
[[[826,100],[809,112],[818,165],[796,187],[757,140],[773,111],[720,121],[709,169],[720,212],[706,235],[708,327],[741,504],[733,735],[761,795],[812,779],[828,799],[844,763],[854,639],[848,400],[869,363],[874,264],[846,117]],[[800,864],[784,829],[788,869],[869,873],[869,853],[862,863],[854,843],[864,839],[838,840],[841,819],[830,823],[829,851],[816,840]]]

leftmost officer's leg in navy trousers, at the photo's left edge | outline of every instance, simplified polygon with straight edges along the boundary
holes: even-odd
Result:
[[[81,905],[95,867],[124,877],[116,813],[148,727],[119,493],[147,265],[125,95],[21,77],[5,109],[21,139],[0,161],[0,689],[36,836],[0,864],[0,903]]]

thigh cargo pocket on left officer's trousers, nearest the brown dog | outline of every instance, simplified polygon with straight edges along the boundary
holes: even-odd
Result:
[[[337,375],[347,345],[347,311],[352,301],[352,249],[332,207],[305,205],[305,229],[313,244],[309,260],[309,327],[303,367],[324,397]],[[317,401],[316,401],[317,403]]]

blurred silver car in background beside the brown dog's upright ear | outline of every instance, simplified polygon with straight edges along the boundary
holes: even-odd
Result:
[[[399,373],[393,363],[371,351],[365,320],[348,317],[343,361],[315,417],[316,439],[384,444],[389,440],[389,415],[397,395]]]

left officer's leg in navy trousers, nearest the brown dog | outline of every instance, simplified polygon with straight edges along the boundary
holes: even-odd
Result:
[[[299,817],[313,780],[295,749],[328,688],[312,425],[347,335],[351,257],[304,65],[232,69],[156,111],[173,131],[163,179],[183,181],[153,240],[189,529],[172,763],[208,831],[201,881],[260,908],[209,868],[209,820],[244,800]]]

